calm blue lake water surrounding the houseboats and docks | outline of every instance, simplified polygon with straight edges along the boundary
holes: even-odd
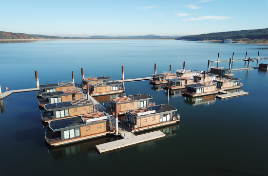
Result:
[[[125,79],[149,77],[154,72],[207,70],[208,59],[228,60],[268,56],[267,45],[175,40],[45,40],[0,44],[2,91],[34,88],[39,83],[81,80],[85,76]],[[259,63],[268,63],[262,60]],[[216,64],[214,64],[216,65]],[[213,64],[211,63],[211,66]],[[228,68],[228,63],[220,63]],[[235,61],[232,68],[247,67]],[[250,66],[257,66],[251,62]],[[169,104],[181,115],[179,125],[162,129],[166,138],[99,155],[95,145],[115,138],[99,138],[60,147],[44,139],[35,92],[12,94],[3,100],[0,114],[0,175],[181,175],[268,176],[268,72],[235,71],[249,95],[208,102],[170,95]],[[167,93],[148,81],[125,83],[129,95],[147,93],[156,104],[167,103]]]

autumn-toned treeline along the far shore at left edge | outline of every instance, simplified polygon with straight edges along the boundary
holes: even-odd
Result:
[[[36,39],[36,38],[61,38],[58,36],[29,35],[24,33],[12,33],[0,31],[0,39]]]

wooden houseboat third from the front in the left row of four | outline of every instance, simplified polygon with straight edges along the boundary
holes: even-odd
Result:
[[[39,106],[43,107],[46,104],[82,100],[82,97],[83,93],[79,89],[63,90],[58,92],[43,92],[38,99],[38,104]]]

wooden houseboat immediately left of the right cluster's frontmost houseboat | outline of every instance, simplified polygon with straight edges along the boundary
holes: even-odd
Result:
[[[175,89],[181,89],[185,88],[186,84],[192,84],[193,83],[193,77],[179,77],[179,78],[174,78],[170,79],[170,85],[166,84],[164,85],[164,89],[170,89],[170,90],[175,90]]]

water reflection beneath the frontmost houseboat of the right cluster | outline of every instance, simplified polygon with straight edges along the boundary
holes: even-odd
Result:
[[[187,104],[190,104],[192,106],[196,106],[196,105],[211,105],[211,104],[215,104],[216,102],[216,95],[207,95],[207,96],[203,96],[203,97],[196,97],[196,98],[192,98],[192,97],[186,97],[186,100],[184,101]]]

